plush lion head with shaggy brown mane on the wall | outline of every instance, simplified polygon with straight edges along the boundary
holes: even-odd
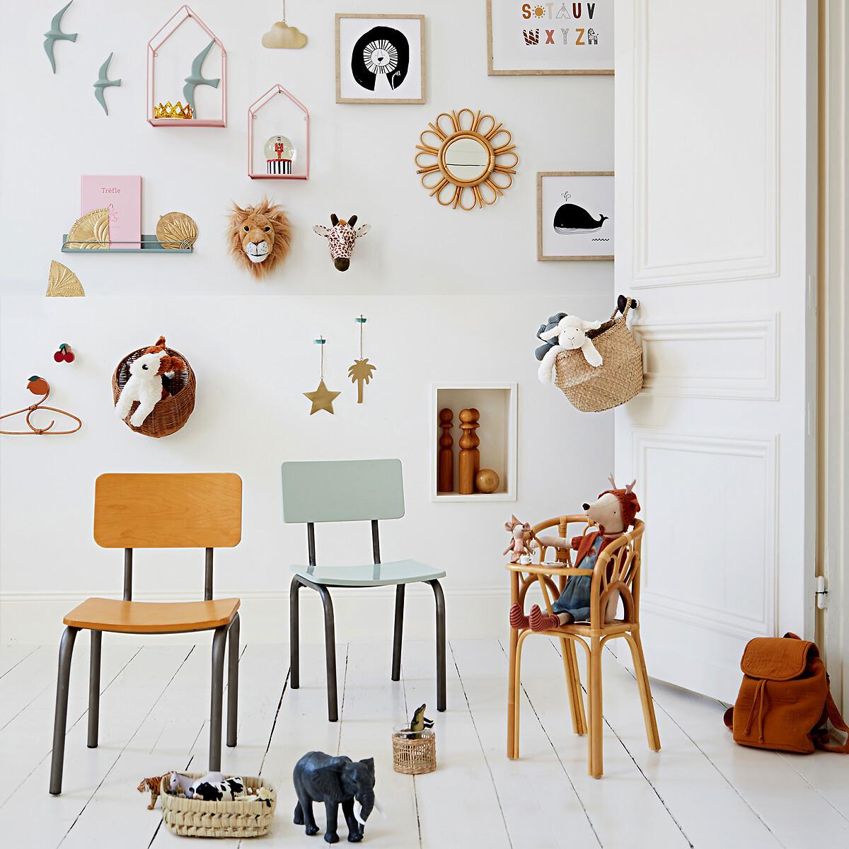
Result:
[[[261,278],[288,256],[292,228],[283,207],[263,198],[255,206],[244,209],[233,204],[228,239],[236,265]]]

